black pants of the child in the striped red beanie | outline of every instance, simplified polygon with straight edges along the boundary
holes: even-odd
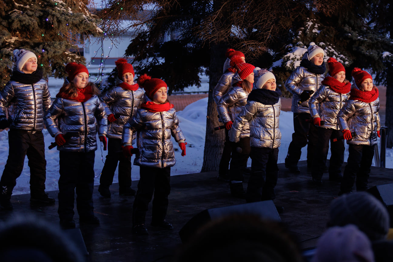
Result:
[[[250,157],[250,137],[239,139],[239,142],[231,142],[232,154],[229,167],[230,180],[236,182],[243,181],[243,171],[247,167]],[[233,182],[232,182],[233,183]]]

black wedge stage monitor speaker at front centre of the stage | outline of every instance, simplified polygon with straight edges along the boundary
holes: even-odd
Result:
[[[205,209],[193,216],[193,218],[180,229],[180,239],[185,243],[202,225],[211,220],[216,220],[232,214],[254,214],[263,219],[281,221],[272,200]]]

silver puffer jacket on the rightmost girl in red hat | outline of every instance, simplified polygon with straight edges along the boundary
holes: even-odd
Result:
[[[356,134],[347,144],[376,145],[376,131],[380,129],[379,98],[371,103],[349,99],[338,113],[340,130],[349,129]]]

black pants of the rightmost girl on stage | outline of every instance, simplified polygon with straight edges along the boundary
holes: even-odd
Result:
[[[351,192],[356,179],[356,191],[365,191],[373,163],[374,146],[349,145],[349,156],[341,181],[341,192]]]

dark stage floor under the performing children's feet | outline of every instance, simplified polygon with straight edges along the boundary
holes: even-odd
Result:
[[[301,247],[308,249],[316,245],[318,237],[326,229],[329,203],[337,197],[340,184],[328,180],[324,174],[323,185],[311,184],[311,174],[306,172],[305,161],[299,162],[300,174],[291,174],[279,164],[279,180],[276,187],[276,205],[285,209],[280,213],[281,221],[298,236]],[[369,186],[393,182],[392,169],[372,167]],[[146,217],[148,236],[132,234],[131,214],[134,197],[121,197],[118,184],[110,187],[112,198],[102,198],[94,188],[94,211],[101,224],[79,226],[89,260],[107,261],[170,261],[176,249],[182,244],[179,230],[196,214],[205,209],[225,207],[245,203],[244,200],[230,196],[229,185],[216,179],[217,172],[204,172],[171,177],[171,194],[167,220],[174,226],[172,231],[159,231],[150,226],[151,203]],[[248,180],[248,176],[245,177]],[[133,181],[136,189],[138,181]],[[244,183],[246,188],[247,183]],[[56,198],[58,191],[48,192]],[[29,204],[29,194],[12,196],[13,211],[0,211],[0,219],[7,220],[16,216],[35,214],[40,218],[58,225],[57,202],[54,206],[34,208]],[[76,213],[76,208],[75,208]]]

